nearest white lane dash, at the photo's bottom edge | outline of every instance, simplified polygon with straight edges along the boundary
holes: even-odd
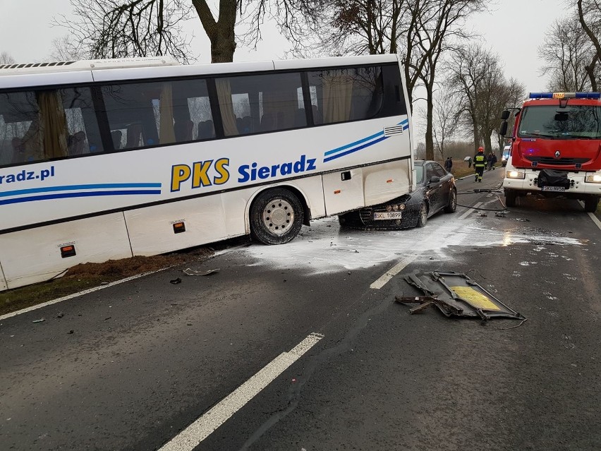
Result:
[[[323,335],[313,332],[290,352],[283,352],[277,356],[219,404],[172,438],[159,451],[193,450],[323,337]]]

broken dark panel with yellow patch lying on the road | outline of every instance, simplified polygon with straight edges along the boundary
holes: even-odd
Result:
[[[436,306],[446,316],[462,318],[526,318],[506,306],[484,289],[478,282],[458,272],[417,272],[405,277],[408,284],[417,287],[425,296],[396,296],[399,303],[419,303],[409,313],[419,313],[429,306]]]

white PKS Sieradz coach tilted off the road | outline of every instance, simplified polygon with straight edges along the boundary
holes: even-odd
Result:
[[[0,66],[0,290],[78,263],[250,234],[413,188],[396,55]]]

